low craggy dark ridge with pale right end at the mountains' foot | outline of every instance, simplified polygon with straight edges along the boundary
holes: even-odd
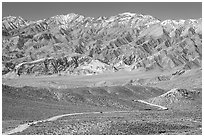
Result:
[[[111,70],[111,68],[104,63],[83,55],[43,58],[31,62],[23,62],[15,66],[15,72],[18,75],[52,75],[62,71],[70,74],[97,74],[106,70]]]

